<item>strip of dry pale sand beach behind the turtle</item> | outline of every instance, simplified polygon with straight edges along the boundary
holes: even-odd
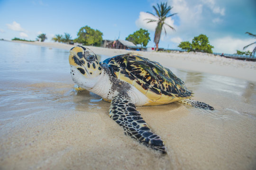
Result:
[[[59,42],[23,42],[49,48],[58,48],[70,50],[74,45],[64,44]],[[94,46],[85,46],[96,54],[115,56],[119,54],[132,53],[151,60],[155,60],[165,67],[172,67],[194,72],[209,73],[220,76],[230,76],[234,78],[244,79],[247,81],[256,82],[256,62],[243,61],[237,59],[228,59],[213,54],[201,52],[155,52],[155,51],[131,51],[121,49],[109,49]]]

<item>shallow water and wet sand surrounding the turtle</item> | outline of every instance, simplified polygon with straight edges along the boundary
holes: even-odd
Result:
[[[170,68],[216,110],[138,108],[163,156],[124,136],[109,103],[72,92],[69,51],[4,41],[0,51],[0,169],[256,168],[255,82]]]

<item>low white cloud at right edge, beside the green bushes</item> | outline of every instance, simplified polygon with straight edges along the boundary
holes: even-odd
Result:
[[[244,46],[255,42],[255,39],[238,39],[238,38],[232,38],[230,36],[223,37],[223,38],[217,38],[212,41],[210,41],[210,44],[214,46],[213,51],[216,52],[224,52],[224,53],[236,53],[237,50],[244,51]],[[247,50],[252,51],[255,46],[249,46]]]

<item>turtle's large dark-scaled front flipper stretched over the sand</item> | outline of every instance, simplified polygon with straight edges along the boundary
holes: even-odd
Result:
[[[161,137],[152,132],[145,120],[141,117],[136,106],[130,102],[126,92],[115,96],[110,105],[110,118],[115,120],[125,134],[137,139],[139,142],[152,147],[155,150],[166,153],[166,148]]]

